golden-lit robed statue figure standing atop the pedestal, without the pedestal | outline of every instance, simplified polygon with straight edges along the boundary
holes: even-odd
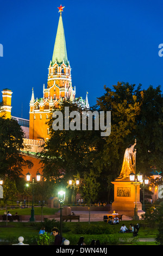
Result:
[[[135,164],[136,164],[136,139],[134,145],[130,144],[129,147],[125,150],[122,169],[118,180],[125,180],[129,178],[130,173],[135,173]]]

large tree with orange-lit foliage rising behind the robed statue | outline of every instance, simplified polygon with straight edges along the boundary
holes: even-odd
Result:
[[[150,175],[163,166],[163,97],[160,86],[141,90],[141,84],[118,83],[98,98],[100,109],[111,111],[111,135],[103,151],[112,179],[120,173],[124,151],[136,138],[136,171]]]

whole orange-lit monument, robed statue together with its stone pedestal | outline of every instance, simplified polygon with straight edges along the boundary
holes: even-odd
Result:
[[[129,145],[125,150],[122,169],[120,176],[117,179],[112,181],[114,184],[114,202],[112,202],[112,209],[124,212],[127,216],[136,216],[135,212],[137,211],[137,216],[141,216],[145,212],[142,211],[142,204],[140,202],[140,184],[134,184],[130,181],[130,173],[135,174],[136,166],[136,145]],[[126,212],[127,211],[127,212]]]

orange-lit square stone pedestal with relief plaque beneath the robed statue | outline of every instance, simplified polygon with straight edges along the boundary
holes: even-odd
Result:
[[[115,180],[111,182],[114,184],[114,202],[112,203],[112,210],[120,211],[127,210],[133,211],[135,208],[135,192],[136,192],[136,204],[137,210],[142,210],[142,204],[140,202],[140,186],[131,184],[130,180]]]

